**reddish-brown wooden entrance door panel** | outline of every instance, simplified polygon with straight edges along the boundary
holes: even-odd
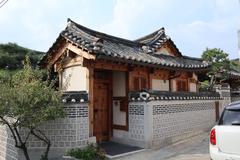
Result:
[[[109,140],[109,83],[106,81],[95,81],[93,112],[93,134],[97,142]]]

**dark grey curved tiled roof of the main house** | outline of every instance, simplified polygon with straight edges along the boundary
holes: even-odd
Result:
[[[171,41],[165,35],[163,28],[146,37],[131,41],[91,30],[68,19],[68,25],[60,33],[60,37],[79,48],[96,54],[97,59],[110,59],[160,68],[206,69],[209,67],[209,64],[203,62],[202,59],[182,56],[180,52],[180,57],[155,54],[157,47]]]

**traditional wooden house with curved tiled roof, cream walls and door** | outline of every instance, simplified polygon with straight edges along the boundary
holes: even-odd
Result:
[[[129,92],[197,92],[197,75],[209,67],[183,56],[164,28],[131,41],[72,20],[42,62],[54,66],[64,91],[89,93],[90,134],[98,142],[111,139],[113,129],[128,130]]]

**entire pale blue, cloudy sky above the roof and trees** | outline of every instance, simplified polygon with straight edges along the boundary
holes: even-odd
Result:
[[[238,57],[239,0],[9,0],[0,8],[0,43],[47,51],[67,18],[131,40],[165,27],[184,55],[216,47]]]

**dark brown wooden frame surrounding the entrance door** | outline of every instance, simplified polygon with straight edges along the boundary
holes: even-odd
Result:
[[[96,83],[106,83],[108,85],[108,122],[107,122],[107,125],[108,125],[108,138],[107,138],[107,141],[111,140],[112,136],[113,136],[113,127],[112,127],[112,122],[113,122],[113,116],[112,116],[112,71],[109,71],[109,70],[95,70],[95,71],[99,71],[99,72],[105,72],[107,73],[107,79],[96,79],[94,78],[93,80],[93,85],[95,85]],[[95,73],[94,73],[95,74]],[[93,89],[94,89],[94,86],[93,86]],[[93,91],[94,92],[94,91]],[[95,94],[94,94],[95,95]],[[93,118],[94,118],[94,109],[95,109],[95,104],[94,104],[94,100],[93,100]],[[94,135],[94,129],[95,129],[95,126],[94,126],[94,122],[93,122],[93,136]]]

